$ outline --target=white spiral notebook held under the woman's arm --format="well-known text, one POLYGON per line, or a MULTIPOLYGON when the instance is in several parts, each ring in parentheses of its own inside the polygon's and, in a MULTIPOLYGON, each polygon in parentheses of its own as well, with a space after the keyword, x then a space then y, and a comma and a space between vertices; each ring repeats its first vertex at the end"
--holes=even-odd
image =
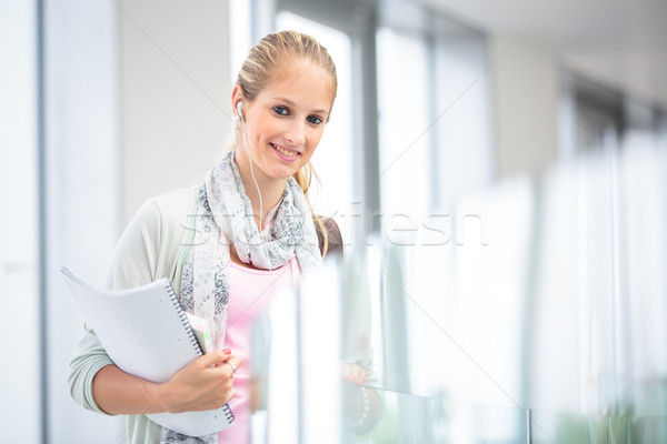
MULTIPOLYGON (((195 332, 166 278, 131 290, 102 290, 61 269, 88 324, 111 361, 126 373, 163 383, 202 355, 195 332)), ((152 413, 151 421, 188 436, 229 427, 229 404, 218 410, 152 413)))

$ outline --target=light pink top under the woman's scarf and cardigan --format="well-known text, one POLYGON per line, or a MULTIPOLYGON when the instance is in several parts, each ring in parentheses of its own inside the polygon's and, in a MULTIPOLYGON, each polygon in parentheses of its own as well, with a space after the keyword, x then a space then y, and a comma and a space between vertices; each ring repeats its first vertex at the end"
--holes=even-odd
POLYGON ((218 443, 250 443, 250 340, 252 325, 271 295, 300 276, 296 258, 276 270, 256 270, 233 262, 229 268, 229 305, 225 347, 243 360, 233 375, 235 396, 229 401, 233 425, 218 434, 218 443))

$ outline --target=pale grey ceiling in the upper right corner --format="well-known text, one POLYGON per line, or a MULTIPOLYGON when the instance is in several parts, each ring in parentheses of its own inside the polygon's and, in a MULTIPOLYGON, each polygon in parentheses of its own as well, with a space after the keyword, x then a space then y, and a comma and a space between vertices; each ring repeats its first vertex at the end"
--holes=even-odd
POLYGON ((537 39, 580 75, 667 110, 666 0, 420 0, 487 32, 537 39))

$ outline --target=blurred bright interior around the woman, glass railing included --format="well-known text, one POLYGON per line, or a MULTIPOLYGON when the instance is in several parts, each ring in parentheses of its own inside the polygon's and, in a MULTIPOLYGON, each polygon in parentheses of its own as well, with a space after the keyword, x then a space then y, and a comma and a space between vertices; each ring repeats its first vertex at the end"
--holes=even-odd
POLYGON ((664 442, 666 20, 659 0, 3 0, 2 436, 122 442, 67 392, 83 319, 59 269, 100 282, 139 205, 202 180, 248 49, 297 29, 339 74, 312 204, 362 261, 387 412, 432 420, 357 438, 664 442))

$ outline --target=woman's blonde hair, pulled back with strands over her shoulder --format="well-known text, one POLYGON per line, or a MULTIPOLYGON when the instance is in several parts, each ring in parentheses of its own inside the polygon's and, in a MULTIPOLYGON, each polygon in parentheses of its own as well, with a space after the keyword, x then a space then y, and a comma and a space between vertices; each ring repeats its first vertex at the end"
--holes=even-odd
MULTIPOLYGON (((280 72, 279 68, 296 60, 308 60, 330 74, 334 92, 331 105, 334 105, 334 99, 336 99, 338 90, 338 78, 334 60, 331 60, 327 49, 316 39, 297 31, 280 31, 268 34, 250 49, 237 78, 237 84, 243 92, 243 100, 252 102, 257 94, 273 80, 275 73, 280 72)), ((295 180, 303 190, 306 199, 308 199, 308 189, 313 175, 317 178, 310 162, 293 174, 295 180)), ((310 211, 312 212, 312 208, 310 211)), ((312 213, 312 216, 323 236, 323 258, 327 255, 329 246, 327 230, 318 215, 312 213)))

